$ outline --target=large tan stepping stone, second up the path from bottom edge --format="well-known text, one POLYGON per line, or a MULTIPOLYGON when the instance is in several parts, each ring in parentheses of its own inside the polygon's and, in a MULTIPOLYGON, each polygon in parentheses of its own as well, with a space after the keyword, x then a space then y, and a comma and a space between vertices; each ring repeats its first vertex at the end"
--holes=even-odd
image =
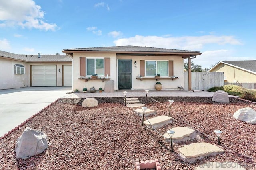
POLYGON ((224 152, 223 149, 206 142, 191 143, 190 145, 184 145, 178 150, 180 151, 180 159, 190 163, 195 162, 197 159, 203 159, 206 156, 216 156, 224 152))

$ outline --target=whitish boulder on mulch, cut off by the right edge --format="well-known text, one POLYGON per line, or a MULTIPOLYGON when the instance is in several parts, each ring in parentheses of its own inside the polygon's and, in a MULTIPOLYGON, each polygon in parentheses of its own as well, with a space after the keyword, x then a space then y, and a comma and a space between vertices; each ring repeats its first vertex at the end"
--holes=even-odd
POLYGON ((239 109, 233 117, 250 124, 256 124, 256 111, 250 107, 239 109))

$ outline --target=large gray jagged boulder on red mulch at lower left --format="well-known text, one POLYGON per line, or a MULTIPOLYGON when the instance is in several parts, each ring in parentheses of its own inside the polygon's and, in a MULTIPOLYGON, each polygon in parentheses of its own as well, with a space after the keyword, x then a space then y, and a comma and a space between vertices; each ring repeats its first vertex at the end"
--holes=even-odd
POLYGON ((15 145, 16 158, 27 159, 38 155, 44 152, 48 145, 48 137, 44 132, 26 127, 15 145))

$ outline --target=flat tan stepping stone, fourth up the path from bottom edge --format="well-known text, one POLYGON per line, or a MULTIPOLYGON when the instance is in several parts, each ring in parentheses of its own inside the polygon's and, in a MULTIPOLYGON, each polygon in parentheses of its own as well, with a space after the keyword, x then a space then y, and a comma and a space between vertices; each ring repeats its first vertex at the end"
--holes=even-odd
POLYGON ((157 117, 153 117, 151 119, 145 120, 143 123, 145 125, 152 127, 152 129, 159 129, 159 128, 163 127, 164 125, 168 125, 172 122, 173 122, 172 117, 157 116, 157 117))

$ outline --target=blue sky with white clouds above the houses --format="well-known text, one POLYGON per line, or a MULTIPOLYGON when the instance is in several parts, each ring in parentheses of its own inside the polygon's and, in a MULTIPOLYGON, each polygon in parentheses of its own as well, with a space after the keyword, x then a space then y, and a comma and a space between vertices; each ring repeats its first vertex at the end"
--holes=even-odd
POLYGON ((255 0, 0 0, 0 50, 137 45, 200 51, 203 68, 256 60, 255 0))

